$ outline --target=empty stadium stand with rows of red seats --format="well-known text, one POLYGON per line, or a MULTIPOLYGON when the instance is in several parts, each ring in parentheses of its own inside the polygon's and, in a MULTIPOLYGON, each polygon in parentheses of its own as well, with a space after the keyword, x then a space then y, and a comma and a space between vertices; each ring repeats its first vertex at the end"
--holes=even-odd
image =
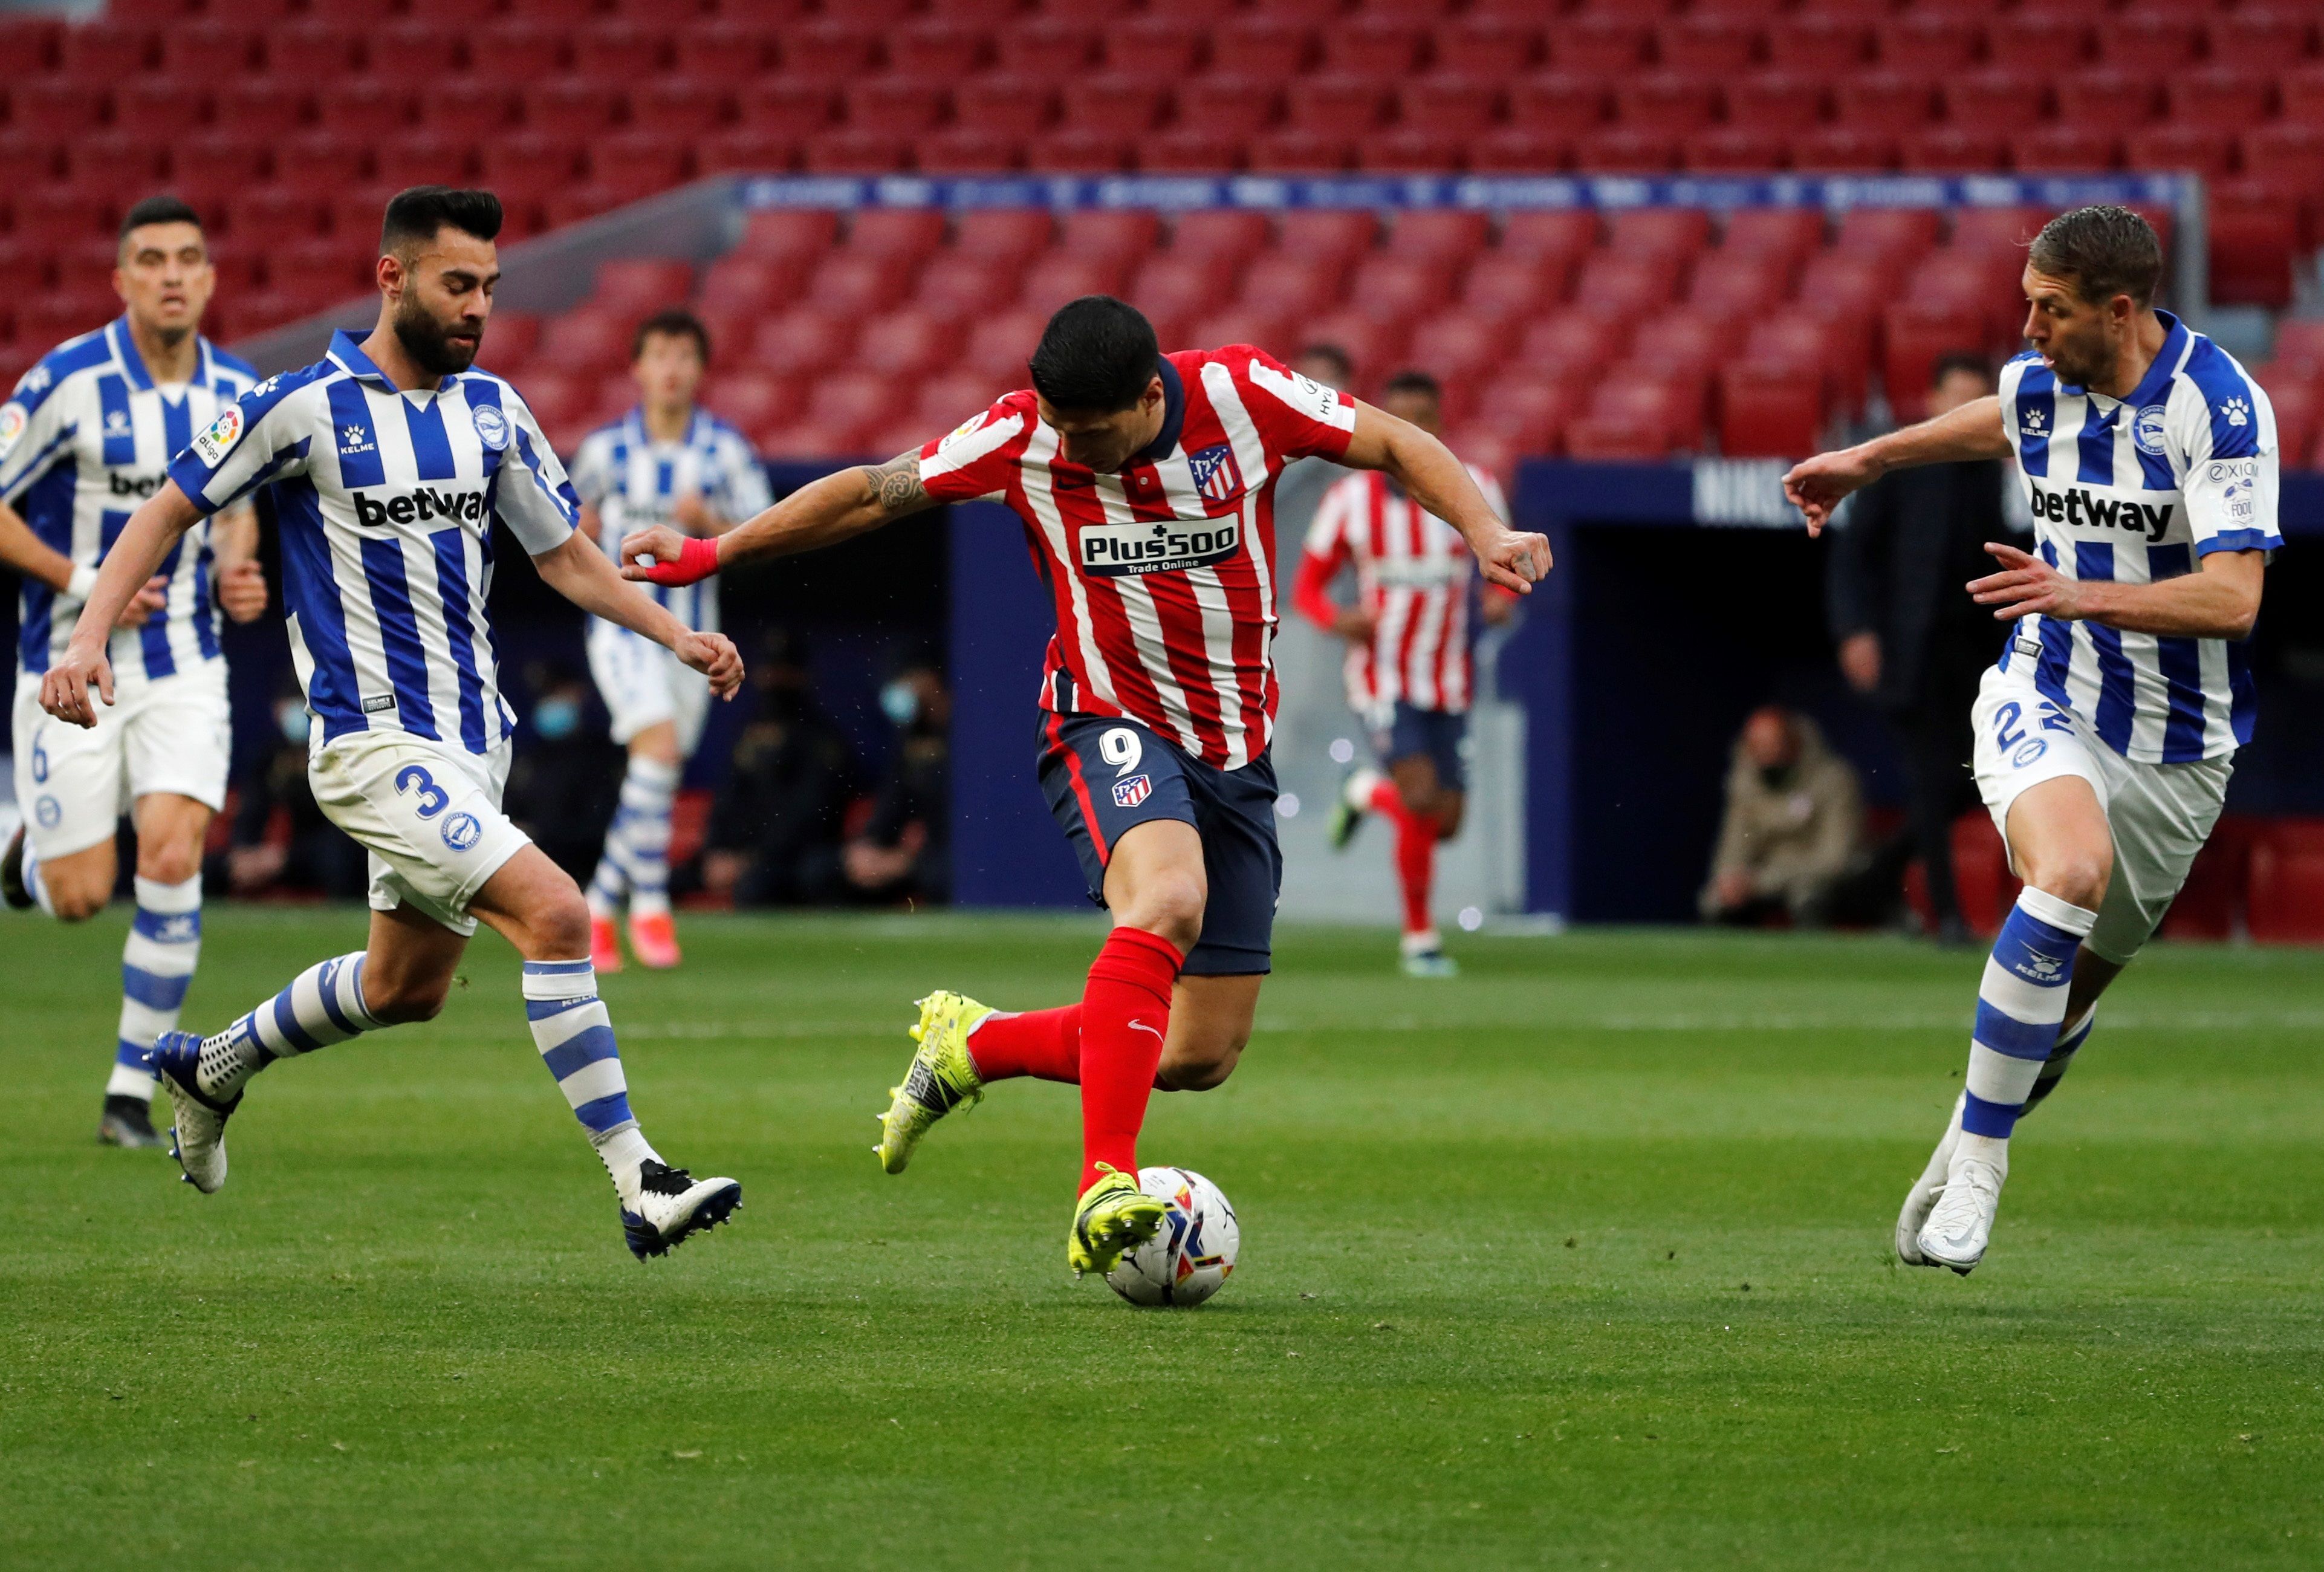
MULTIPOLYGON (((488 181, 511 235, 716 172, 2096 172, 2210 181, 2210 293, 2282 307, 2324 240, 2312 5, 2205 0, 116 0, 0 19, 0 370, 112 309, 112 226, 216 226, 228 337, 358 291, 383 198, 488 181), (365 14, 372 12, 372 14, 365 14)), ((1174 342, 1334 337, 1455 386, 1515 453, 1799 453, 1875 386, 2015 337, 2040 212, 769 212, 725 258, 609 267, 490 363, 558 435, 627 402, 627 326, 693 298, 769 453, 892 451, 1020 379, 1085 291, 1174 342), (1903 281, 1903 288, 1899 288, 1903 281), (1520 353, 1511 356, 1511 344, 1520 353), (813 395, 809 395, 813 388, 813 395)), ((2324 333, 2261 370, 2317 460, 2324 333)))

